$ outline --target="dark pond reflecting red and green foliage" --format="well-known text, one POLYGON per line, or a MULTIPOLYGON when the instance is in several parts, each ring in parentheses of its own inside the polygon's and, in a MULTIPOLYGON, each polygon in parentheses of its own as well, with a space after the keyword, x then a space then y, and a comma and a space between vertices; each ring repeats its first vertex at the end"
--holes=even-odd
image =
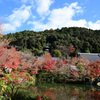
POLYGON ((100 100, 98 86, 38 83, 36 87, 51 100, 100 100))

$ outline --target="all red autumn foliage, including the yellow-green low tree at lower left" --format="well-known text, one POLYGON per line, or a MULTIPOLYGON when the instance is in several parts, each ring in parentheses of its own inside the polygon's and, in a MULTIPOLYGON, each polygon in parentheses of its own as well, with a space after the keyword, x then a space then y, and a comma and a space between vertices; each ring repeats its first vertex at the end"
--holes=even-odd
MULTIPOLYGON (((83 57, 74 57, 69 62, 61 59, 53 60, 49 53, 43 55, 42 59, 36 59, 33 55, 28 57, 8 44, 7 40, 0 42, 0 74, 3 74, 0 81, 5 82, 6 85, 10 84, 11 97, 14 96, 16 86, 20 88, 22 83, 30 80, 30 76, 39 72, 61 74, 67 79, 83 80, 88 77, 90 81, 100 77, 100 61, 90 63, 83 57), (74 69, 73 66, 76 68, 74 69)), ((75 50, 73 46, 69 49, 70 52, 75 50)))

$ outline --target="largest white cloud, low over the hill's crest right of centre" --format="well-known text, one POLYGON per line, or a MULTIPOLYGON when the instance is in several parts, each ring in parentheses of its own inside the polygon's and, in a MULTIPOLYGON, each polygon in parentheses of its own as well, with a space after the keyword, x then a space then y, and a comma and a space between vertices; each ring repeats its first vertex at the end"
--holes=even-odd
POLYGON ((77 2, 75 2, 63 8, 53 9, 50 12, 48 22, 46 24, 44 24, 43 21, 33 21, 28 24, 33 25, 33 30, 44 30, 50 28, 56 29, 71 26, 85 27, 87 22, 84 19, 78 21, 73 20, 73 17, 81 12, 81 7, 78 6, 77 2))

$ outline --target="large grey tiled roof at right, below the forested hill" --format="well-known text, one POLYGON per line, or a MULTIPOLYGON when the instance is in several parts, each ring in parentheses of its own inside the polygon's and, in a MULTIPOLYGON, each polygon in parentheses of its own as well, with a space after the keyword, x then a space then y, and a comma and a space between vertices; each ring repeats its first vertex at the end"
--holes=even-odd
POLYGON ((90 62, 100 60, 100 53, 78 53, 78 57, 87 58, 90 62))

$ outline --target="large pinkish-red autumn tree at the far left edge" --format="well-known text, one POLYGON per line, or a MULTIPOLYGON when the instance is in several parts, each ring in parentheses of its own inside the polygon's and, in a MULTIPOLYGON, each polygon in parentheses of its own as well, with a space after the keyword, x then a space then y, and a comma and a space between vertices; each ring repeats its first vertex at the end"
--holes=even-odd
POLYGON ((7 41, 1 42, 0 45, 0 68, 14 69, 18 68, 20 63, 20 53, 14 47, 8 49, 7 41))

